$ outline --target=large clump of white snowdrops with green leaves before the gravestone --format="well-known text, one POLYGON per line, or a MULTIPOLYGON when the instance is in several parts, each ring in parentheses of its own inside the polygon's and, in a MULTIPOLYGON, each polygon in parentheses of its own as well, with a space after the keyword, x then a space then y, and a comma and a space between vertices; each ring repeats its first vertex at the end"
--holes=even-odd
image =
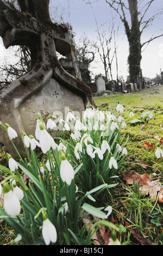
MULTIPOLYGON (((123 107, 118 104, 116 111, 121 114, 123 107)), ((55 129, 54 120, 49 117, 45 125, 39 114, 35 138, 22 131, 26 159, 22 159, 15 148, 20 161, 16 162, 8 154, 9 168, 0 166, 8 173, 0 187, 4 196, 0 217, 18 234, 15 242, 27 245, 91 245, 92 230, 98 222, 85 234, 83 212, 101 218, 100 225, 113 230, 112 234, 115 230, 120 231, 107 221, 110 208, 96 208, 91 202, 96 202, 98 197, 104 198, 108 189, 116 185, 112 181, 127 155, 127 141, 124 142, 120 134, 126 125, 123 118, 88 107, 82 120, 70 112, 65 121, 60 121, 64 134, 70 135, 68 139, 62 136, 57 144, 48 132, 55 129), (72 120, 75 120, 73 131, 70 129, 72 120), (120 138, 123 146, 118 143, 120 138), (40 162, 36 147, 45 154, 46 161, 40 162), (22 173, 28 176, 28 185, 22 173), (90 203, 85 201, 88 198, 90 203)), ((8 124, 3 127, 14 145, 16 131, 8 124)), ((115 241, 114 234, 111 242, 115 241)))

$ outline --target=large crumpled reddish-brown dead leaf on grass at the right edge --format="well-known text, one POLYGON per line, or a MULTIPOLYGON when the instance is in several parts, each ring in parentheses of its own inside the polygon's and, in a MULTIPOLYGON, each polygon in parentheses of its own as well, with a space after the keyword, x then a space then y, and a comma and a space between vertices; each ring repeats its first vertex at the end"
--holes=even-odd
POLYGON ((126 180, 127 184, 133 185, 133 180, 135 184, 137 184, 138 180, 140 181, 140 188, 141 195, 149 195, 150 198, 155 199, 158 192, 161 191, 161 182, 160 180, 153 180, 149 178, 148 174, 138 174, 135 173, 134 170, 131 170, 130 173, 123 174, 123 180, 126 180))

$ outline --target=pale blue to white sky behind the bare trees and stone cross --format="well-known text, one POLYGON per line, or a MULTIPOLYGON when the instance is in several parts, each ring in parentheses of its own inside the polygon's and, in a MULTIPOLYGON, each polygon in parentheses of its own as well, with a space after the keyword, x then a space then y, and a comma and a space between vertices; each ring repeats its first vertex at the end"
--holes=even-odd
MULTIPOLYGON (((149 0, 143 0, 147 3, 149 0)), ((90 40, 96 41, 99 44, 99 36, 97 33, 97 25, 101 32, 106 31, 109 35, 110 21, 114 17, 115 29, 119 27, 118 35, 116 36, 117 59, 118 59, 118 76, 122 76, 124 80, 128 75, 127 57, 129 53, 127 36, 124 33, 122 22, 116 13, 110 9, 109 4, 105 0, 50 0, 49 10, 51 19, 55 22, 71 23, 75 40, 78 41, 82 36, 87 36, 90 40), (96 25, 96 21, 97 25, 96 25)), ((127 0, 124 0, 127 3, 127 0)), ((151 8, 149 8, 146 19, 154 15, 155 11, 163 9, 163 1, 155 0, 151 8)), ((127 16, 128 18, 129 16, 127 16)), ((147 41, 152 35, 163 34, 162 30, 163 14, 155 19, 142 34, 142 41, 147 41)), ((114 45, 112 44, 112 49, 114 45)), ((8 50, 5 50, 0 37, 0 57, 1 60, 6 58, 8 50)), ((163 71, 163 36, 152 41, 142 52, 141 68, 143 77, 154 78, 156 74, 160 74, 160 69, 163 71)), ((103 64, 99 59, 99 54, 96 53, 96 58, 91 63, 90 69, 94 75, 101 73, 104 75, 103 64)), ((112 65, 113 78, 116 80, 116 66, 112 65)))

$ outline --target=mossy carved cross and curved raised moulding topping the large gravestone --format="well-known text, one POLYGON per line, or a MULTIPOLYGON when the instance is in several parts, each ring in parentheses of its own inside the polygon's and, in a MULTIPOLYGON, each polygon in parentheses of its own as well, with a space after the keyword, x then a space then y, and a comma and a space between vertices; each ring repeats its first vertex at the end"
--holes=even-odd
MULTIPOLYGON (((13 121, 13 128, 21 133, 23 120, 19 121, 20 109, 24 102, 30 106, 30 97, 41 92, 47 83, 50 83, 53 90, 59 87, 70 90, 73 95, 81 97, 84 105, 88 102, 92 105, 95 103, 89 87, 68 74, 59 63, 56 51, 62 55, 69 54, 71 38, 66 26, 51 21, 49 0, 17 0, 17 2, 21 11, 9 7, 0 0, 0 36, 6 48, 12 45, 28 46, 32 65, 27 74, 0 90, 0 120, 9 124, 13 121), (51 81, 54 83, 52 84, 51 81)), ((38 99, 41 98, 38 96, 38 99)), ((23 109, 25 107, 21 111, 23 109)), ((33 110, 30 109, 30 112, 33 110)), ((7 138, 1 127, 0 134, 0 147, 2 147, 5 146, 7 138)))

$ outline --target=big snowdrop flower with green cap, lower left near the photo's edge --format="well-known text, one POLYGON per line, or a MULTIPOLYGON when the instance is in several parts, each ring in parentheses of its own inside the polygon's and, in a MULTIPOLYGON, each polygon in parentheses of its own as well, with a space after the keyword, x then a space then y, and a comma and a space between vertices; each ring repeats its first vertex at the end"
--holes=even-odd
POLYGON ((10 190, 9 185, 5 182, 3 185, 4 197, 3 206, 5 212, 10 216, 20 215, 21 205, 20 200, 12 190, 10 190))

